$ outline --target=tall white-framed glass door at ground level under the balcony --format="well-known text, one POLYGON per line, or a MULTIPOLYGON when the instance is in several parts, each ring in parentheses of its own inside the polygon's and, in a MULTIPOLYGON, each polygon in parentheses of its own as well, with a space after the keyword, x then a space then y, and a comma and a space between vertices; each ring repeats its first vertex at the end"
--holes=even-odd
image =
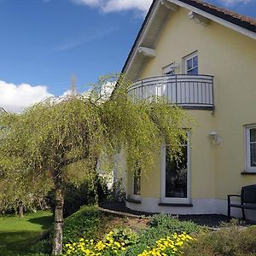
POLYGON ((166 147, 162 148, 161 201, 163 203, 190 203, 190 148, 183 144, 180 160, 170 160, 166 147))

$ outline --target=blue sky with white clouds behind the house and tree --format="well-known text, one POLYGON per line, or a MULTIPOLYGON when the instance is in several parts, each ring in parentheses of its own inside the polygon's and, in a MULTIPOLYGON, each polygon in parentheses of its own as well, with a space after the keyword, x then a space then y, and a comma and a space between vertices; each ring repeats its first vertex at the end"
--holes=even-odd
MULTIPOLYGON (((120 72, 152 0, 0 0, 0 107, 19 111, 120 72), (41 86, 39 86, 41 85, 41 86)), ((209 2, 256 18, 255 0, 209 2)))

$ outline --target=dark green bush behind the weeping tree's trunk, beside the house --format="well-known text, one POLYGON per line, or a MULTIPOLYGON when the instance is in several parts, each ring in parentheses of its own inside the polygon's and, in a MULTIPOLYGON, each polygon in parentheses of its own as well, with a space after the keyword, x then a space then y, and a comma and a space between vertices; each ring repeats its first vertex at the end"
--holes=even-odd
MULTIPOLYGON (((101 177, 96 177, 94 183, 88 180, 79 186, 67 183, 65 186, 64 218, 67 218, 73 212, 79 211, 80 207, 84 205, 93 205, 105 201, 107 197, 108 187, 101 177)), ((46 201, 52 212, 55 209, 54 198, 54 191, 51 190, 46 196, 46 201)))

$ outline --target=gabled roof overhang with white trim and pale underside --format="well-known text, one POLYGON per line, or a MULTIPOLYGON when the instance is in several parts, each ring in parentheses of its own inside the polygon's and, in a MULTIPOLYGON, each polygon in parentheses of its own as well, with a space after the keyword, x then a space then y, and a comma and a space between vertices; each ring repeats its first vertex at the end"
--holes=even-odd
POLYGON ((122 73, 125 73, 129 79, 136 80, 143 67, 143 62, 148 57, 154 57, 154 47, 161 28, 169 15, 172 15, 180 7, 189 10, 189 19, 195 19, 196 22, 201 22, 204 26, 207 26, 208 21, 212 20, 249 38, 256 39, 256 25, 239 20, 217 8, 208 7, 207 4, 204 5, 193 0, 154 0, 122 69, 122 73), (148 55, 145 52, 148 52, 148 55))

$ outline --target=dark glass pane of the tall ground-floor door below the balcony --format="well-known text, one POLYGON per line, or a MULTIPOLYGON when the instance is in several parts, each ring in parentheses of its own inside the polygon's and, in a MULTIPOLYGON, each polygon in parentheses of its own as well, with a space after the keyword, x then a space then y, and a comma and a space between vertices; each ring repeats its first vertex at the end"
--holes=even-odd
POLYGON ((168 160, 166 155, 166 197, 188 197, 188 147, 183 147, 180 161, 168 160))

